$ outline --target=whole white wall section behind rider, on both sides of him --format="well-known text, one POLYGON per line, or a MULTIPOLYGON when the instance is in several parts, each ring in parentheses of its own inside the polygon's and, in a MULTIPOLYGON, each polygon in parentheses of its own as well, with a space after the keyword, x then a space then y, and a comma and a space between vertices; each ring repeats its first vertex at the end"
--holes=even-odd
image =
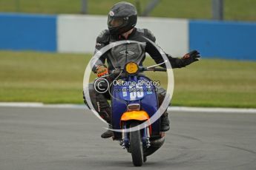
MULTIPOLYGON (((157 44, 174 56, 188 52, 188 20, 138 18, 137 27, 148 28, 157 44)), ((108 29, 107 16, 59 15, 57 18, 58 52, 94 51, 96 37, 108 29)))

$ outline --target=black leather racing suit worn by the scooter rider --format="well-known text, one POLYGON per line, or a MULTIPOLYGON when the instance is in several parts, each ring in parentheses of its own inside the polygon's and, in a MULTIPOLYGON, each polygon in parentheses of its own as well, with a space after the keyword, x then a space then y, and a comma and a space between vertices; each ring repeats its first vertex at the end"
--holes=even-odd
MULTIPOLYGON (((122 35, 111 35, 108 30, 103 30, 102 33, 100 33, 100 35, 96 38, 95 52, 101 50, 102 47, 105 47, 106 45, 116 41, 131 40, 139 41, 141 43, 122 44, 111 48, 111 50, 105 52, 101 56, 101 58, 96 61, 96 64, 93 66, 93 72, 96 72, 96 66, 105 65, 105 61, 107 61, 108 63, 109 70, 117 67, 122 68, 128 61, 135 61, 137 62, 137 64, 142 66, 142 63, 145 60, 145 52, 148 52, 148 54, 151 56, 151 58, 154 59, 157 64, 162 63, 162 55, 160 55, 160 52, 157 50, 157 48, 154 47, 154 45, 151 44, 151 42, 148 41, 147 38, 153 42, 156 41, 154 35, 147 29, 134 28, 133 32, 128 35, 127 39, 122 37, 122 35)), ((171 62, 172 68, 185 67, 182 59, 172 58, 170 55, 166 55, 168 57, 168 60, 171 62)), ((165 64, 161 65, 161 67, 165 67, 165 64)), ((103 119, 105 119, 108 123, 111 123, 111 107, 109 106, 109 103, 107 101, 108 99, 110 99, 108 92, 105 92, 104 94, 98 93, 93 88, 93 84, 89 84, 89 93, 94 109, 99 112, 99 115, 103 119)), ((157 87, 159 106, 163 103, 165 93, 165 89, 157 87)), ((84 94, 84 101, 85 95, 86 94, 84 94)), ((167 112, 165 114, 167 114, 167 112)))

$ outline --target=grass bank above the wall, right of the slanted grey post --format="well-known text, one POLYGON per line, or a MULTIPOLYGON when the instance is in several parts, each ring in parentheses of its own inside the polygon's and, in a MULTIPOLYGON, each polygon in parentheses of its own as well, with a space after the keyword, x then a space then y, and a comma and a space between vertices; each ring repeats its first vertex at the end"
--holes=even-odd
MULTIPOLYGON (((224 19, 256 20, 255 0, 224 0, 224 19)), ((163 0, 151 16, 211 19, 211 0, 163 0)))

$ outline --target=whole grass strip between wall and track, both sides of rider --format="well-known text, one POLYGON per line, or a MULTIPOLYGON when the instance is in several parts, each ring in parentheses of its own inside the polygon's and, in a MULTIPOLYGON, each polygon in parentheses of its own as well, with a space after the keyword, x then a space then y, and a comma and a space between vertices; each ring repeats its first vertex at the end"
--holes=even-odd
MULTIPOLYGON (((91 55, 0 51, 0 101, 82 103, 91 55)), ((153 64, 150 58, 145 65, 153 64)), ((174 69, 174 106, 256 108, 256 62, 202 59, 174 69)), ((164 72, 149 75, 166 87, 164 72)))

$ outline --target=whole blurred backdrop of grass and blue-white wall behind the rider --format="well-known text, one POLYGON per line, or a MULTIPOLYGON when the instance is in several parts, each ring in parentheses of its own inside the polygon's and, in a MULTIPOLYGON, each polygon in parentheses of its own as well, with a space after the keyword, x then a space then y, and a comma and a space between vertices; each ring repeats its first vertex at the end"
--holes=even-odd
MULTIPOLYGON (((85 67, 116 2, 0 0, 0 102, 82 103, 85 67)), ((201 52, 174 70, 174 106, 256 107, 255 0, 129 2, 165 52, 201 52)), ((149 76, 167 86, 164 73, 149 76)))

